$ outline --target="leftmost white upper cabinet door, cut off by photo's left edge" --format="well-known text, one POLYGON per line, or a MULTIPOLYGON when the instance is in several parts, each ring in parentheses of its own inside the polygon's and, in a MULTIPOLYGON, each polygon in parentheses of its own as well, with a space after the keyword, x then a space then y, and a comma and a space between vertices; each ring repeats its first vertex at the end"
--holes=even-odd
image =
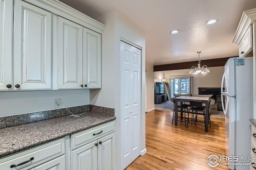
POLYGON ((12 87, 12 1, 0 0, 0 90, 12 87))

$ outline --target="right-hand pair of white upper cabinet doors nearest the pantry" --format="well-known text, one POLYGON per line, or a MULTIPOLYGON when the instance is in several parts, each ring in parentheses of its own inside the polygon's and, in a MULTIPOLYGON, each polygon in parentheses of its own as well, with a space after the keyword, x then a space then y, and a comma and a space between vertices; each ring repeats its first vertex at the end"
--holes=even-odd
POLYGON ((101 88, 101 34, 58 16, 58 89, 101 88))

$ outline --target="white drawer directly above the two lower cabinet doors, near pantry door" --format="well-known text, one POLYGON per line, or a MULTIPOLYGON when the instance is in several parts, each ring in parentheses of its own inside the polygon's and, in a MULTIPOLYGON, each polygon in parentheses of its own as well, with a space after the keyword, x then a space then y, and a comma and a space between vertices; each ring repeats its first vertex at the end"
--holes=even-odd
POLYGON ((96 140, 102 135, 107 135, 115 130, 115 122, 111 121, 92 127, 90 129, 75 133, 71 135, 71 150, 74 150, 92 140, 96 140))

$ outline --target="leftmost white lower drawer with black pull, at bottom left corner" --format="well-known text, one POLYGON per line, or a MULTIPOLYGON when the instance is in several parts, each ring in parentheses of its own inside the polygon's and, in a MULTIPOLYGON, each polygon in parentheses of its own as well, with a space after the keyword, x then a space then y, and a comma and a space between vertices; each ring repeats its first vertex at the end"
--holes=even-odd
POLYGON ((62 154, 65 154, 65 139, 58 139, 32 149, 28 149, 17 154, 13 154, 0 159, 1 170, 27 170, 49 160, 52 160, 62 154), (34 158, 30 162, 10 168, 11 165, 18 165, 22 162, 28 161, 34 158))

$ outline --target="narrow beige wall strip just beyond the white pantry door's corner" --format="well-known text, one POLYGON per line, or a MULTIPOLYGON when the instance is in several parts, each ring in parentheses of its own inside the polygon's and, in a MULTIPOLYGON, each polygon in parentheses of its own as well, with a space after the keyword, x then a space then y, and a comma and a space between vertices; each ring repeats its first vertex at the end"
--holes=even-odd
POLYGON ((147 111, 155 109, 154 104, 154 65, 153 63, 146 63, 147 70, 147 111))

